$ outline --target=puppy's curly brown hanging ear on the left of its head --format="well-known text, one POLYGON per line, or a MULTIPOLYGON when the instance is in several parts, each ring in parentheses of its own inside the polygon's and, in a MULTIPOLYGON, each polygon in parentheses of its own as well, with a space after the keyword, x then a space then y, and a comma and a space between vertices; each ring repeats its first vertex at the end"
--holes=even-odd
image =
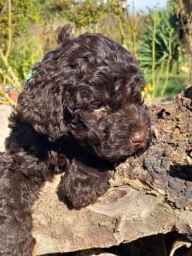
POLYGON ((60 88, 54 80, 47 82, 44 73, 37 73, 32 81, 26 82, 18 98, 15 116, 48 136, 49 141, 54 141, 65 135, 68 128, 64 125, 60 88))

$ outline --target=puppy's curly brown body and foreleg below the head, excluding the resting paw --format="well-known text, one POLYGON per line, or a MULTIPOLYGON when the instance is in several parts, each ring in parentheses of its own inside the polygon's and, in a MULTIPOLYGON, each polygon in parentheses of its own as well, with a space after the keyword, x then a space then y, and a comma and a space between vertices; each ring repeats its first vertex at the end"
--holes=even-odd
POLYGON ((29 256, 35 244, 31 207, 42 183, 59 172, 57 156, 31 125, 17 120, 10 127, 0 156, 0 255, 29 256))

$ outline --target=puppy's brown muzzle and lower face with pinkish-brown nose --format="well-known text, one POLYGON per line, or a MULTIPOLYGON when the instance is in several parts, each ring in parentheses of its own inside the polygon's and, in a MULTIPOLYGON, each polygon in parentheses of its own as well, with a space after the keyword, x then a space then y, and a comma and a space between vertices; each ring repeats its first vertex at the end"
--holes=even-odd
POLYGON ((110 161, 142 154, 148 148, 151 129, 145 108, 132 104, 113 112, 100 111, 84 111, 69 121, 73 137, 84 148, 110 161))

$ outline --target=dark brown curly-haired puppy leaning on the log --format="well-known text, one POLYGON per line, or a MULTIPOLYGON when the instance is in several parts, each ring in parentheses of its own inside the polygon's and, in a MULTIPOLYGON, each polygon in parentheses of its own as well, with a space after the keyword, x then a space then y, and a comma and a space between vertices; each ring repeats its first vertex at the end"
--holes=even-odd
POLYGON ((138 61, 100 34, 70 33, 64 26, 58 48, 34 65, 9 119, 0 160, 3 256, 32 255, 31 207, 45 180, 64 172, 59 198, 85 207, 108 189, 113 165, 150 143, 138 61))

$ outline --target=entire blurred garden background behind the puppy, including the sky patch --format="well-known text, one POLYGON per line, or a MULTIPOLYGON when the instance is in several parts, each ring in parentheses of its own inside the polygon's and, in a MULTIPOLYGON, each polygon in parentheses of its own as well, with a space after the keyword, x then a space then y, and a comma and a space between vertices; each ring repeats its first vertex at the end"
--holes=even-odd
POLYGON ((0 103, 14 105, 61 26, 99 32, 141 61, 149 102, 192 82, 192 0, 0 0, 0 103))

